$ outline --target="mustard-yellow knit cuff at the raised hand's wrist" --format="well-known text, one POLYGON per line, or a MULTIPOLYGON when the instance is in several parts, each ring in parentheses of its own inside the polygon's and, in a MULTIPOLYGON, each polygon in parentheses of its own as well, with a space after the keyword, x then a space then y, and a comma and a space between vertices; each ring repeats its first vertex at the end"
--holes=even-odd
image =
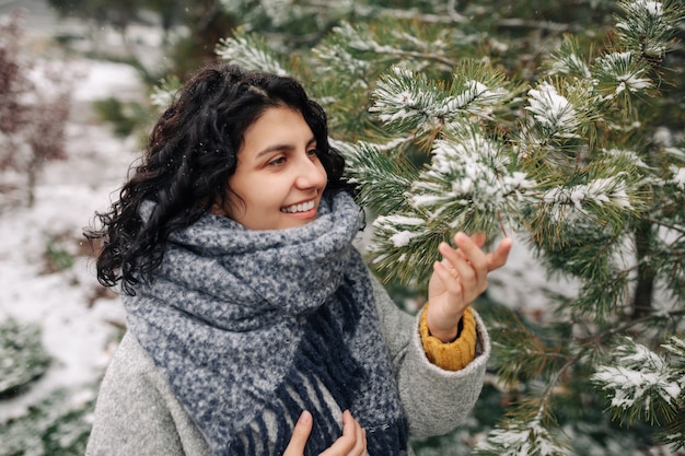
POLYGON ((430 335, 426 315, 428 304, 421 311, 419 332, 428 361, 445 371, 458 371, 476 358, 476 318, 471 307, 466 307, 462 317, 463 328, 453 342, 443 342, 430 335))

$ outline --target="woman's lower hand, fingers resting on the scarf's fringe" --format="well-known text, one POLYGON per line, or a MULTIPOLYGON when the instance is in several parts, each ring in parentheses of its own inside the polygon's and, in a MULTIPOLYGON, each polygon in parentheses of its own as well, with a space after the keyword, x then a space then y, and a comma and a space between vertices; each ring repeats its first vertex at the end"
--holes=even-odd
MULTIPOLYGON (((292 431, 292 437, 283 456, 302 456, 312 432, 312 414, 303 411, 292 431)), ((320 456, 363 456, 367 454, 367 432, 352 418, 349 410, 342 413, 342 436, 320 456)))

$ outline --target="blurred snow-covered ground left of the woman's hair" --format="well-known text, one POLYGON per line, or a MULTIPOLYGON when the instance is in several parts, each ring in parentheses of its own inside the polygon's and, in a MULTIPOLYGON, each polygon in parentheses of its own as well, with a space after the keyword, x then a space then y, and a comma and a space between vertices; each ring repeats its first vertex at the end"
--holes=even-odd
MULTIPOLYGON (((138 86, 135 71, 124 65, 79 61, 84 72, 76 91, 77 106, 92 95, 120 93, 138 86)), ((45 377, 25 395, 0 404, 0 422, 58 386, 96 381, 106 365, 107 342, 123 324, 118 300, 97 297, 100 287, 88 256, 77 256, 73 268, 49 273, 46 249, 50 242, 72 254, 90 249, 82 229, 95 210, 106 208, 135 157, 135 141, 112 136, 107 126, 92 121, 70 124, 63 162, 48 163, 36 188, 36 202, 0 212, 0 319, 35 323, 55 362, 45 377)))

